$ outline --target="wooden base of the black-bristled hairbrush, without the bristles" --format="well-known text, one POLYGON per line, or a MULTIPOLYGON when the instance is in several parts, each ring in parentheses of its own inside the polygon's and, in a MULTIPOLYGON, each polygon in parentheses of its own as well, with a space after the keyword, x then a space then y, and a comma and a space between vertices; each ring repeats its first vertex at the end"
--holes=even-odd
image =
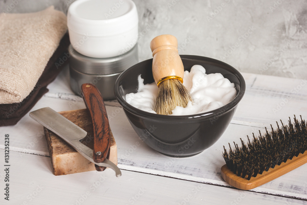
POLYGON ((276 179, 305 163, 307 163, 307 151, 304 154, 299 154, 297 157, 294 156, 292 160, 287 160, 280 165, 276 165, 274 168, 270 168, 268 171, 264 171, 261 175, 258 174, 256 177, 251 177, 250 180, 237 176, 227 168, 226 164, 222 166, 221 174, 223 179, 231 186, 238 189, 250 190, 276 179))

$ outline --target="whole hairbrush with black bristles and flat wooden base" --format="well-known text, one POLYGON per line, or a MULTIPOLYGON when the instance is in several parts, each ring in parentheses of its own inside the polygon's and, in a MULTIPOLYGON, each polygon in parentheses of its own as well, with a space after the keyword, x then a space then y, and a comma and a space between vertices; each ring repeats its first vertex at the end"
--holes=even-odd
MULTIPOLYGON (((276 122, 277 123, 277 122, 276 122)), ((282 122, 281 122, 282 123, 282 122)), ((221 168, 223 179, 239 189, 249 190, 265 184, 289 171, 307 163, 307 126, 305 120, 298 121, 294 116, 294 124, 282 124, 277 130, 266 133, 259 131, 253 140, 248 138, 247 145, 241 139, 242 147, 235 144, 232 150, 226 151, 223 157, 226 164, 221 168)))

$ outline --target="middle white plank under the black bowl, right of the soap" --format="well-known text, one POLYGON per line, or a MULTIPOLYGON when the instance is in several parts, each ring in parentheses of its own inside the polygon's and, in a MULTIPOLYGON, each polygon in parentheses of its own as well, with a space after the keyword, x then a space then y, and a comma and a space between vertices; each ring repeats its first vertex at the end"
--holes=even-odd
MULTIPOLYGON (((119 112, 115 118, 116 120, 110 121, 111 128, 127 124, 122 112, 119 112)), ((254 128, 250 126, 230 124, 220 140, 199 155, 172 158, 149 148, 133 129, 129 127, 122 129, 126 130, 124 135, 119 129, 113 132, 118 142, 119 168, 223 186, 229 186, 220 174, 220 169, 225 164, 222 157, 223 145, 226 146, 228 142, 233 141, 239 142, 240 137, 244 139, 247 134, 254 132, 254 128)), ((307 199, 307 189, 304 188, 307 186, 304 171, 306 168, 307 164, 253 190, 307 199)))

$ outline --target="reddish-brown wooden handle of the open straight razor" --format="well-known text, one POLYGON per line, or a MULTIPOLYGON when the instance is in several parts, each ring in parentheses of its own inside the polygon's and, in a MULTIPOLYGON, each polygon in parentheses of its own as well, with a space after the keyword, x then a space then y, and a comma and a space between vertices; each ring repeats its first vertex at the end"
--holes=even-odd
MULTIPOLYGON (((85 83, 81 86, 82 96, 91 115, 94 129, 94 162, 103 162, 110 150, 110 127, 106 107, 101 93, 95 85, 85 83)), ((95 165, 97 171, 103 171, 105 167, 95 165)))

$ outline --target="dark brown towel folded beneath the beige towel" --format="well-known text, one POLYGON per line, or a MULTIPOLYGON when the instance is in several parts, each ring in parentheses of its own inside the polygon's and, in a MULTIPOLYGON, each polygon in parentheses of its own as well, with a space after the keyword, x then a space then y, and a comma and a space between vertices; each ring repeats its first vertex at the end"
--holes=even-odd
POLYGON ((65 34, 60 42, 59 47, 48 61, 44 72, 39 78, 36 86, 22 102, 0 104, 0 126, 16 124, 23 116, 25 116, 25 114, 31 110, 31 108, 33 108, 37 101, 45 93, 48 92, 48 89, 46 88, 47 85, 56 78, 56 76, 68 63, 68 60, 63 61, 62 59, 68 55, 69 44, 70 42, 68 34, 65 34))

